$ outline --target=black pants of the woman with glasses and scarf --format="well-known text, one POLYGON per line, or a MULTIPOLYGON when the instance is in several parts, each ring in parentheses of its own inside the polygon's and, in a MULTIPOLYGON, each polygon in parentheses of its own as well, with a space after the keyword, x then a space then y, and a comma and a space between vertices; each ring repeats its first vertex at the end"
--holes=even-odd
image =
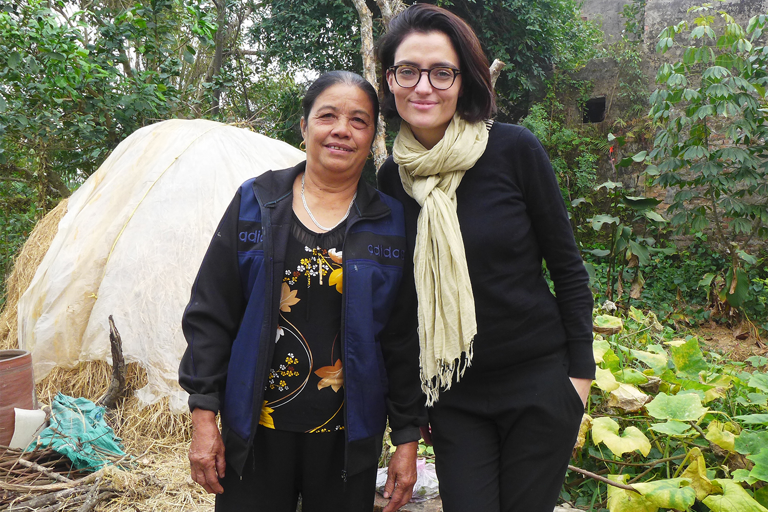
POLYGON ((562 355, 468 368, 429 408, 445 512, 552 512, 584 407, 562 355))

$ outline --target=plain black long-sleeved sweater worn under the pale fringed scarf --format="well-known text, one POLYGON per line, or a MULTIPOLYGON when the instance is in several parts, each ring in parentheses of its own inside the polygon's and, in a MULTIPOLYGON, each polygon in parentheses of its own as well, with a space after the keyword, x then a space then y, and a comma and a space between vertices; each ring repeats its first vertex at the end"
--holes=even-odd
MULTIPOLYGON (((379 189, 402 202, 414 246, 420 207, 390 157, 379 189)), ((468 372, 496 371, 554 352, 568 375, 594 378, 589 277, 546 151, 524 127, 495 123, 485 153, 456 190, 478 334, 468 372), (541 272, 545 259, 554 292, 541 272)), ((415 291, 403 296, 416 314, 415 291)))

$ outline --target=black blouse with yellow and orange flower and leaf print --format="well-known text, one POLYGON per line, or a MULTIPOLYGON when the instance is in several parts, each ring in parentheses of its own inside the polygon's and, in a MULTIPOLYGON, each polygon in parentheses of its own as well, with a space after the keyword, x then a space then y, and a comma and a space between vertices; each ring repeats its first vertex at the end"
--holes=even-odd
POLYGON ((314 233, 293 215, 280 327, 259 424, 293 432, 344 428, 342 245, 346 221, 314 233))

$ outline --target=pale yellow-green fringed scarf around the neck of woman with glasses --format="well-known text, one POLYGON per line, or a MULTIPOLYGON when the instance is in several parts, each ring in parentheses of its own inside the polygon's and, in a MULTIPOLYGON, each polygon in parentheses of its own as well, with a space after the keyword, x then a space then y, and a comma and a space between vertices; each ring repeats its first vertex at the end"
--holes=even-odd
POLYGON ((441 388, 451 388, 457 371, 458 380, 472 362, 475 297, 456 216, 456 188, 486 144, 485 123, 468 123, 455 114, 442 140, 430 150, 403 121, 392 150, 403 188, 422 206, 413 263, 427 405, 437 401, 441 388))

